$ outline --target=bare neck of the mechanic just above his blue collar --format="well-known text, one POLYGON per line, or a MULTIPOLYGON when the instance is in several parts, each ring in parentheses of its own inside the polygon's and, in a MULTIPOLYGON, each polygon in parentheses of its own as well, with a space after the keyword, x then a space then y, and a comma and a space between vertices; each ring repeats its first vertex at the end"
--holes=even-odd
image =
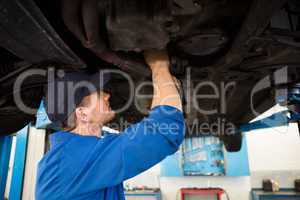
POLYGON ((102 125, 91 123, 82 124, 78 125, 75 129, 72 130, 72 132, 83 136, 100 137, 102 134, 102 125))

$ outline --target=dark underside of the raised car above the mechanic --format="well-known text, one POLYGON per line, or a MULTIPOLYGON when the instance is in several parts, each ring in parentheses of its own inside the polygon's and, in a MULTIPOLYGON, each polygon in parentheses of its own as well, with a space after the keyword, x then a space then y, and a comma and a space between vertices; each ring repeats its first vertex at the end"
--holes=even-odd
MULTIPOLYGON (((34 120, 13 100, 15 80, 29 69, 121 69, 140 83, 151 80, 143 50, 167 48, 170 70, 182 83, 190 127, 195 120, 247 123, 255 117, 252 108, 262 113, 272 107, 278 88, 300 79, 297 0, 1 0, 0 19, 1 134, 34 120), (282 67, 288 78, 276 84, 273 74, 282 67), (252 96, 268 76, 270 86, 252 96), (203 82, 209 84, 198 87, 203 82), (214 96, 216 90, 223 99, 214 96), (196 104, 216 112, 198 112, 193 95, 206 95, 196 104)), ((38 74, 23 82, 20 92, 28 107, 38 108, 46 85, 47 77, 38 74)), ((130 92, 123 77, 113 75, 109 88, 113 107, 126 103, 130 92)), ((152 89, 143 92, 151 94, 152 89)), ((147 108, 151 98, 137 101, 147 108)), ((131 105, 116 120, 134 123, 143 116, 131 105)), ((212 130, 191 128, 187 136, 206 132, 212 130)), ((219 136, 229 149, 240 148, 239 135, 219 136)))

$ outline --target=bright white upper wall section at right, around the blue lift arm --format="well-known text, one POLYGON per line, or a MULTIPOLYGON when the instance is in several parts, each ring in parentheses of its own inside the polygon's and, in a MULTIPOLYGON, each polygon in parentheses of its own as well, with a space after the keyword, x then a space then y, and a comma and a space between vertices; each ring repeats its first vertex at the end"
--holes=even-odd
MULTIPOLYGON (((257 119, 285 108, 275 106, 257 119)), ((251 171, 300 170, 300 135, 297 124, 247 133, 251 171)))

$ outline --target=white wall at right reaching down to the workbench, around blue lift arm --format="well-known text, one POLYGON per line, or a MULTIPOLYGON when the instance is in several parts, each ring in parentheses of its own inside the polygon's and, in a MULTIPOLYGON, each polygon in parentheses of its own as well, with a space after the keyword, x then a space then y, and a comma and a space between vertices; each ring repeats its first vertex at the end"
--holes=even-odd
MULTIPOLYGON (((259 118, 285 108, 275 106, 259 118)), ((281 188, 294 187, 300 178, 300 135, 297 124, 247 133, 252 187, 261 187, 263 179, 277 181, 281 188)))

